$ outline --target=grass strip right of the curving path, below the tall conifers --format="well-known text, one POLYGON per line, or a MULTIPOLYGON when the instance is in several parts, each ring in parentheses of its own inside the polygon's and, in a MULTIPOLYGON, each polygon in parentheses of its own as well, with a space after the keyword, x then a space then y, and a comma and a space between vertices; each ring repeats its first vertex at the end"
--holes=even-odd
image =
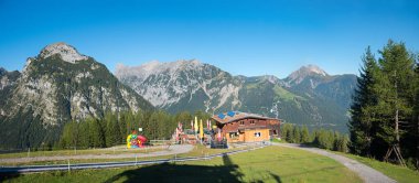
POLYGON ((348 153, 341 153, 341 152, 334 152, 334 151, 333 151, 333 153, 339 153, 339 154, 345 155, 347 158, 354 159, 361 163, 364 163, 364 164, 386 174, 387 176, 396 180, 397 182, 400 182, 400 183, 419 182, 419 173, 413 171, 413 170, 410 170, 408 168, 402 168, 402 166, 395 165, 391 163, 380 162, 377 160, 368 159, 365 157, 358 157, 358 155, 354 155, 354 154, 348 154, 348 153))

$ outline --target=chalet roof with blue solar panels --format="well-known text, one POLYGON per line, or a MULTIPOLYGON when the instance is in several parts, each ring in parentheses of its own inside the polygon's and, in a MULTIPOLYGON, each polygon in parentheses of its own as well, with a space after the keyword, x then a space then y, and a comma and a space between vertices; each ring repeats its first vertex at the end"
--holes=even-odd
POLYGON ((256 115, 256 114, 248 114, 248 112, 241 112, 241 111, 227 111, 227 112, 223 112, 219 115, 214 115, 212 117, 212 119, 214 119, 215 121, 217 121, 219 123, 228 123, 228 122, 233 122, 233 121, 237 121, 237 120, 241 120, 241 119, 246 119, 246 118, 275 119, 275 118, 262 117, 262 116, 256 115))

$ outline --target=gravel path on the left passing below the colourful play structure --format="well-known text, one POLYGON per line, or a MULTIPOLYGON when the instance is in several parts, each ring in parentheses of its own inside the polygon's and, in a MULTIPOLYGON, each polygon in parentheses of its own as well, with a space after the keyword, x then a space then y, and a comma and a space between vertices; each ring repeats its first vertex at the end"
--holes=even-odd
POLYGON ((87 159, 123 159, 123 158, 146 158, 146 157, 160 157, 172 155, 179 153, 186 153, 193 149, 191 144, 174 144, 162 148, 161 151, 153 151, 149 153, 121 153, 121 154, 80 154, 80 155, 57 155, 57 157, 33 157, 33 158, 11 158, 0 159, 1 163, 22 163, 32 161, 60 161, 60 160, 87 160, 87 159))

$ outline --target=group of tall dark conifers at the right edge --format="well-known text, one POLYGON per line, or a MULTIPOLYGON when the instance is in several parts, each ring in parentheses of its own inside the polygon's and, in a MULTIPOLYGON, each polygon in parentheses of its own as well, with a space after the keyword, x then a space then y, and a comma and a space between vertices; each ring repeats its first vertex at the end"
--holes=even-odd
POLYGON ((388 41, 366 49, 351 106, 353 153, 419 168, 418 54, 388 41))

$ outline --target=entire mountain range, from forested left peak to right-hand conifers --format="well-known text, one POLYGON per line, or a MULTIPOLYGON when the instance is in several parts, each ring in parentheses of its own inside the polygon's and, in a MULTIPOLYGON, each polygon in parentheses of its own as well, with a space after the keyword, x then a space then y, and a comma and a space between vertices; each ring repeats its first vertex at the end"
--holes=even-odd
POLYGON ((0 148, 52 146, 65 122, 121 110, 240 110, 345 131, 355 85, 355 75, 332 76, 314 65, 280 79, 233 76, 196 60, 119 64, 114 75, 55 43, 29 57, 22 72, 0 68, 0 148))

